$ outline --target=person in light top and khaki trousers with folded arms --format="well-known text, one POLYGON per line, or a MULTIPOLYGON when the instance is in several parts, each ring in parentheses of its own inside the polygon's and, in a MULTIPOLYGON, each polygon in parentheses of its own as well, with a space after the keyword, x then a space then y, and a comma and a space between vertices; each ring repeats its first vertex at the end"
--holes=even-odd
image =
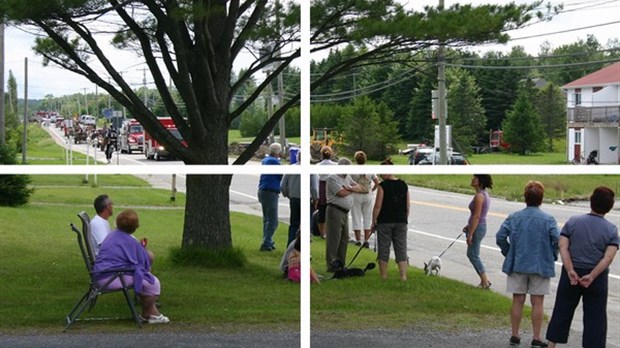
MULTIPOLYGON (((351 160, 341 158, 338 165, 350 165, 351 160)), ((334 272, 332 263, 340 260, 346 264, 349 242, 349 210, 353 207, 353 192, 360 192, 359 186, 347 174, 331 174, 326 181, 327 207, 325 209, 325 258, 327 271, 334 272)))

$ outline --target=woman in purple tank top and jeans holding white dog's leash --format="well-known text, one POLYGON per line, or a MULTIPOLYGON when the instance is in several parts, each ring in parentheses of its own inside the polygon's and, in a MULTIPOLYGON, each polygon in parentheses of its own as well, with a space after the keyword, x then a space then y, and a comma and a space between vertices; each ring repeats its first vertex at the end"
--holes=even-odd
POLYGON ((480 244, 487 233, 487 213, 491 198, 487 192, 487 188, 493 188, 493 179, 490 175, 475 174, 471 178, 471 186, 476 190, 474 199, 469 203, 469 221, 467 226, 463 228, 467 236, 467 258, 480 277, 479 287, 488 289, 491 282, 487 278, 487 274, 480 259, 480 244))

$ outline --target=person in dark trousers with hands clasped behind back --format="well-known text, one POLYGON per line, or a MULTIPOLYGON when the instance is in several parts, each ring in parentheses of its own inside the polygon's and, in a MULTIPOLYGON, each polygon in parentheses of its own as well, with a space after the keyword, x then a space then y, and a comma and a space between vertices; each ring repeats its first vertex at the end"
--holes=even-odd
POLYGON ((618 227, 605 220, 614 191, 597 187, 589 214, 571 217, 560 235, 562 275, 547 329, 549 347, 567 343, 575 308, 583 299, 582 347, 602 348, 607 341, 609 265, 618 252, 618 227))

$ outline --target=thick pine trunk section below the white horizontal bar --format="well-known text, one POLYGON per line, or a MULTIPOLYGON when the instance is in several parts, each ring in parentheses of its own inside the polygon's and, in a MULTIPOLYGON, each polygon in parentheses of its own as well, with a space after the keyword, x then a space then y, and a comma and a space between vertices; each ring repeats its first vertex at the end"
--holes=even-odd
POLYGON ((183 248, 232 247, 229 189, 232 175, 188 175, 183 248))

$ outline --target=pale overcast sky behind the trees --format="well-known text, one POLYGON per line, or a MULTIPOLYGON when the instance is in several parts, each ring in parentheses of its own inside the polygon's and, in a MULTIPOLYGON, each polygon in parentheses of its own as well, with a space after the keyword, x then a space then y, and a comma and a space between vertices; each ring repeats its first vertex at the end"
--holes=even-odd
MULTIPOLYGON (((438 0, 401 0, 409 9, 422 10, 426 5, 436 6, 438 0)), ((445 0, 445 6, 449 7, 457 1, 445 0)), ((517 3, 530 3, 530 1, 517 0, 517 3)), ((460 1, 460 3, 473 3, 479 5, 489 1, 460 1)), ((492 3, 492 2, 491 2, 492 3)), ((501 2, 495 2, 501 3, 501 2)), ((551 1, 558 4, 560 1, 551 1)), ((578 39, 585 40, 588 34, 593 34, 598 41, 605 45, 609 39, 620 38, 620 0, 566 0, 563 1, 566 13, 561 13, 550 22, 538 23, 524 29, 510 32, 513 38, 505 45, 485 45, 470 47, 475 52, 487 50, 509 52, 512 46, 523 46, 531 55, 539 52, 540 45, 548 40, 552 48, 576 42, 578 39), (570 10, 570 11, 569 11, 570 10), (598 26, 614 22, 610 25, 598 26), (589 26, 597 26, 589 29, 573 30, 589 26), (560 31, 565 33, 557 33, 560 31), (548 35, 542 35, 548 34, 548 35), (535 37, 530 37, 535 36, 535 37), (529 37, 526 39, 519 39, 529 37)), ((103 41, 103 40, 101 40, 103 41)), ((14 27, 7 27, 5 32, 5 79, 8 79, 8 71, 11 70, 17 80, 19 97, 24 97, 24 60, 28 58, 28 98, 40 99, 51 94, 62 96, 74 93, 95 93, 95 86, 85 78, 65 71, 52 65, 43 67, 42 57, 32 51, 34 36, 14 27)), ((243 65, 243 57, 242 62, 243 65)), ((247 57, 245 58, 248 61, 247 57)), ((302 60, 303 61, 303 60, 302 60)), ((140 87, 143 84, 144 63, 129 52, 115 50, 112 62, 120 70, 123 76, 132 86, 140 87)), ((149 87, 151 79, 147 75, 149 87)), ((101 90, 99 90, 101 93, 101 90)))

